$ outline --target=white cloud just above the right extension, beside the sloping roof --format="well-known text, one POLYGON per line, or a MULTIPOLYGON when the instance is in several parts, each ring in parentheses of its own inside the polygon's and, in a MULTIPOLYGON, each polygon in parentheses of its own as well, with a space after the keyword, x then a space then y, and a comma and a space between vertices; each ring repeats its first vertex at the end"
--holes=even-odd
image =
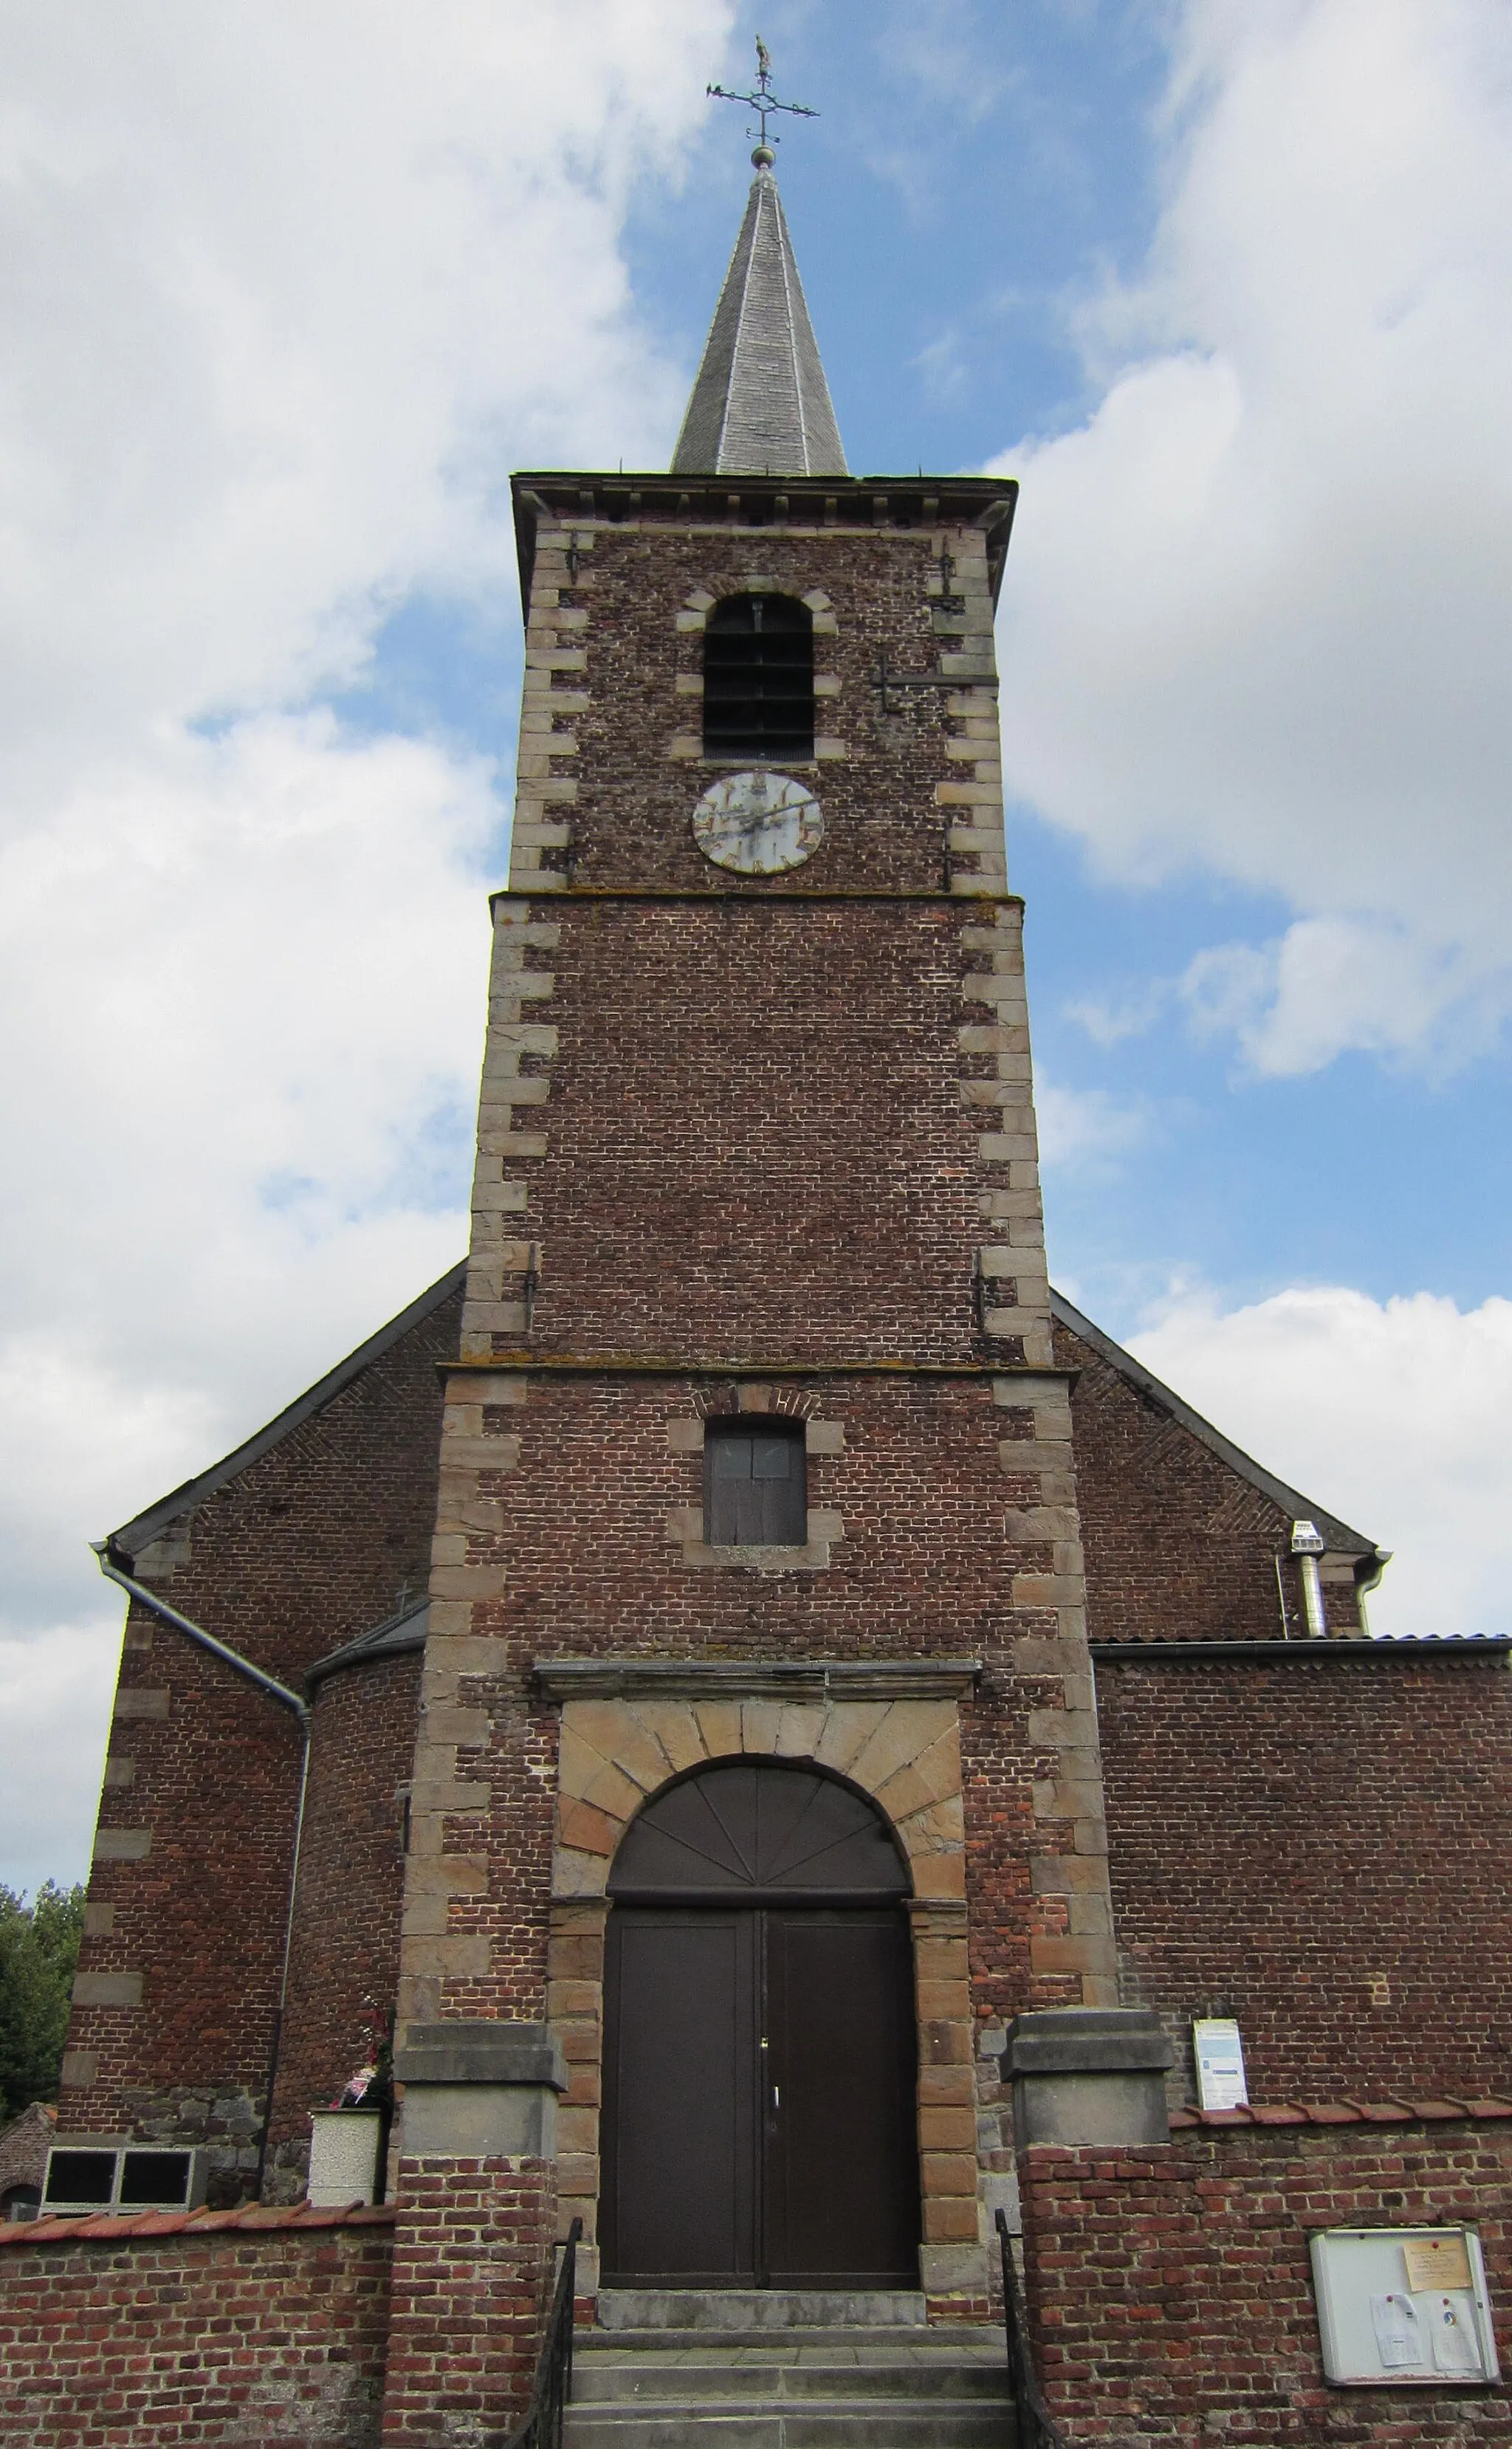
POLYGON ((1130 1349, 1228 1438, 1394 1550, 1380 1633, 1512 1631, 1512 1300, 1345 1286, 1179 1296, 1130 1349))

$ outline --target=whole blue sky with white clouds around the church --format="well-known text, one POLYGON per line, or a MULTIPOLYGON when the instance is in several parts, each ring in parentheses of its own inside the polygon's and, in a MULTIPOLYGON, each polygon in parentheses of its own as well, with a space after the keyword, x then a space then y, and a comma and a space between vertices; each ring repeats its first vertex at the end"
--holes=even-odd
POLYGON ((752 37, 850 468, 1022 482, 1051 1276, 1507 1631, 1502 0, 0 0, 0 1883, 88 1540, 463 1251, 510 468, 667 465, 752 37))

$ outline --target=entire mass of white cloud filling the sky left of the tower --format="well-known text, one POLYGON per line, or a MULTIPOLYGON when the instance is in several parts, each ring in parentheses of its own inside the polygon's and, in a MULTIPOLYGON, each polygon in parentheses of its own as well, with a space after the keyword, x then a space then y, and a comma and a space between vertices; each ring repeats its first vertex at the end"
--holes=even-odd
POLYGON ((500 776, 309 705, 507 602, 510 465, 664 456, 620 233, 730 17, 0 0, 0 1878, 83 1861, 86 1540, 463 1247, 500 776))

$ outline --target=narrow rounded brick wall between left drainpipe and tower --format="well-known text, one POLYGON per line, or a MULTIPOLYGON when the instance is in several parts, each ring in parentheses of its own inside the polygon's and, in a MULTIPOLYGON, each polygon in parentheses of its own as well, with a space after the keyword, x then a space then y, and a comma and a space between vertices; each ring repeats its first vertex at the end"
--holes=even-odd
POLYGON ((353 1660, 316 1685, 265 2185, 277 2202, 304 2194, 309 2111, 370 2060, 395 2008, 417 1700, 417 1651, 353 1660))

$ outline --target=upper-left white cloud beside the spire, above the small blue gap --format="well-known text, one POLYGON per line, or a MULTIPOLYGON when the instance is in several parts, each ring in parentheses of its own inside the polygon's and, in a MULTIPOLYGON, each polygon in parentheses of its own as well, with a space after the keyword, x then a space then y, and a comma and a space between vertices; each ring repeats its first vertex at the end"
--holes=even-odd
POLYGON ((505 578, 512 463, 671 429, 618 235, 725 0, 5 20, 10 757, 277 700, 385 595, 505 578))

